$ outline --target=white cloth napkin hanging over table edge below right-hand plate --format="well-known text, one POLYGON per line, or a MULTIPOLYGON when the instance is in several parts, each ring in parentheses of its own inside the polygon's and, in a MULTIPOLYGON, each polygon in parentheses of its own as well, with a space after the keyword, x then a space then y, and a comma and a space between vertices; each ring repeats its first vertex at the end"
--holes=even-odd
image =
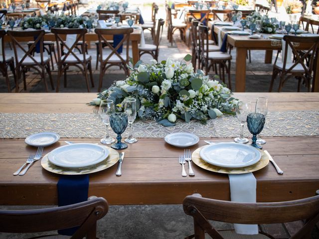
MULTIPOLYGON (((230 200, 240 203, 256 203, 257 181, 253 173, 228 174, 230 200)), ((237 234, 257 235, 258 225, 234 224, 237 234)))

